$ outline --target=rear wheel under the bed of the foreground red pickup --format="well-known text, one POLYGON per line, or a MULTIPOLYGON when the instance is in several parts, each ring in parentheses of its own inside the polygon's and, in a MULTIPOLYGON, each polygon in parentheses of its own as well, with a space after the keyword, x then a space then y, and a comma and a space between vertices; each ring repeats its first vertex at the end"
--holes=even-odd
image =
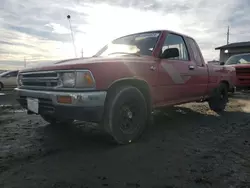
POLYGON ((211 97, 208 100, 208 104, 211 110, 215 112, 222 112, 225 110, 228 102, 228 87, 226 84, 221 83, 216 88, 211 97))

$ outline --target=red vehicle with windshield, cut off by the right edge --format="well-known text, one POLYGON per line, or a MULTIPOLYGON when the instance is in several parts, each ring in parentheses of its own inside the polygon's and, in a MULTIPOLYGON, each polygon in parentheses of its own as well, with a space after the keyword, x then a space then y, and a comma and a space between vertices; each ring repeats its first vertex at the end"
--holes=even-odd
POLYGON ((235 67, 237 89, 250 89, 250 53, 233 55, 221 65, 235 67))

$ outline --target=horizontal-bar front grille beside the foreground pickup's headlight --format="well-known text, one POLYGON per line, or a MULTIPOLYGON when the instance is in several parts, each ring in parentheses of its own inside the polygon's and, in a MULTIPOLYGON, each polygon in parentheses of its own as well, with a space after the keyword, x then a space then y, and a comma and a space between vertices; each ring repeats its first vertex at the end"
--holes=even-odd
POLYGON ((22 86, 29 88, 52 88, 59 85, 57 72, 22 73, 22 86))

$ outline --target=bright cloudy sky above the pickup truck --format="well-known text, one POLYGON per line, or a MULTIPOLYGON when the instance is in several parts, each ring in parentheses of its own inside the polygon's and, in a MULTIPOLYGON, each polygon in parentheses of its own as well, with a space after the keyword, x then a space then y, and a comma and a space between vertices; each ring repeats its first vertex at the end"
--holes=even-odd
POLYGON ((94 55, 111 40, 167 29, 192 36, 205 60, 214 48, 250 41, 249 0, 0 0, 0 69, 94 55))

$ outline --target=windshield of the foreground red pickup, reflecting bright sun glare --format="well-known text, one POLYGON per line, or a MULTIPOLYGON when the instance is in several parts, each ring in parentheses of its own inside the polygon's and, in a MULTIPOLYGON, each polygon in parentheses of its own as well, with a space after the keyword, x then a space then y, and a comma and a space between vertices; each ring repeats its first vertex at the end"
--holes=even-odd
POLYGON ((95 56, 135 54, 151 56, 160 32, 137 33, 115 39, 104 46, 95 56))

